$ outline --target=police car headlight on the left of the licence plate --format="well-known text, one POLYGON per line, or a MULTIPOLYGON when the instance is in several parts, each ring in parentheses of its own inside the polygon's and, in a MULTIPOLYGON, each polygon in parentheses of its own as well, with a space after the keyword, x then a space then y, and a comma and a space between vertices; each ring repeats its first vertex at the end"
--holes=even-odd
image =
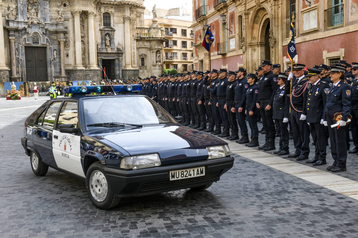
POLYGON ((147 155, 128 156, 121 159, 121 168, 137 169, 160 166, 161 161, 158 153, 147 155))

